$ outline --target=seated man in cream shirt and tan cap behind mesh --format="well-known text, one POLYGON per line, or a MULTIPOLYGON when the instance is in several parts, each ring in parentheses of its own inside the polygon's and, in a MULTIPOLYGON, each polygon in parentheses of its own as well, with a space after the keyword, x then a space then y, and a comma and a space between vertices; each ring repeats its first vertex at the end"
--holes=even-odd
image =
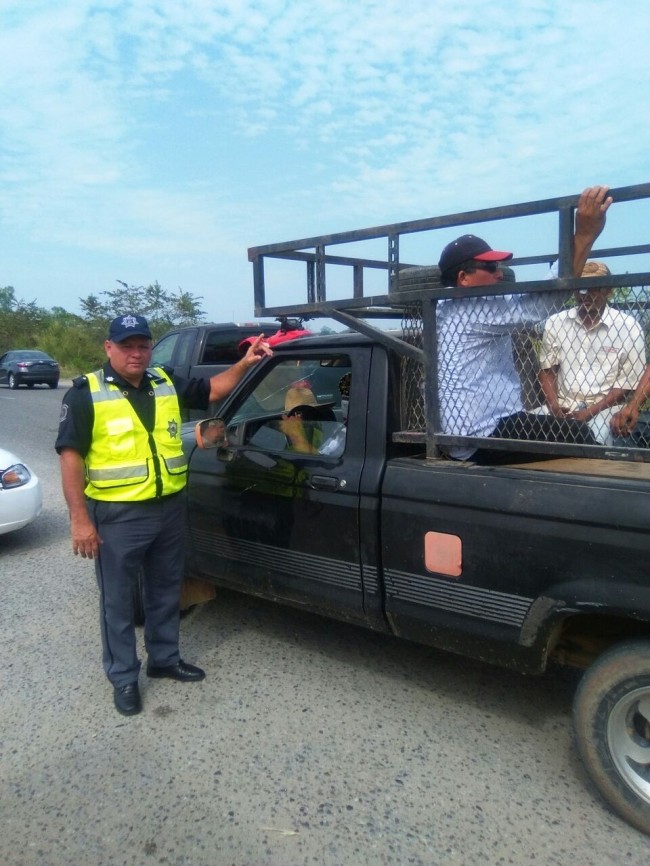
MULTIPOLYGON (((587 262, 582 276, 608 276, 603 262, 587 262)), ((545 411, 586 421, 594 437, 612 445, 610 421, 637 386, 646 363, 645 337, 633 316, 607 303, 611 288, 580 289, 575 306, 544 327, 539 381, 545 411)))

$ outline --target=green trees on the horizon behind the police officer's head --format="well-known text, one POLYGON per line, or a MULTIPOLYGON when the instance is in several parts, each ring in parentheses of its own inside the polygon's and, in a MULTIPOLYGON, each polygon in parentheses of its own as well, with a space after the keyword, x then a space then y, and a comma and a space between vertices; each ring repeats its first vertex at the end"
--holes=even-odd
POLYGON ((191 292, 167 292, 158 282, 148 286, 117 282, 112 291, 80 298, 80 314, 58 306, 39 307, 36 301, 16 297, 13 286, 0 288, 0 355, 9 349, 40 349, 55 358, 65 373, 76 375, 101 366, 109 323, 121 313, 146 316, 154 340, 170 328, 194 325, 205 316, 203 298, 191 292))

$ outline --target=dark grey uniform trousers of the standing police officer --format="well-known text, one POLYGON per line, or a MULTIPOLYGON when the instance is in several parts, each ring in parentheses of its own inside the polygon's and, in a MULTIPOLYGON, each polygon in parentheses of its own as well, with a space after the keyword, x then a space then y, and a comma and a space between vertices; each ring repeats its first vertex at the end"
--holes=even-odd
POLYGON ((133 588, 142 569, 144 642, 156 667, 179 659, 179 600, 185 560, 185 496, 145 502, 88 500, 101 544, 95 560, 106 676, 115 686, 135 682, 140 672, 133 588))

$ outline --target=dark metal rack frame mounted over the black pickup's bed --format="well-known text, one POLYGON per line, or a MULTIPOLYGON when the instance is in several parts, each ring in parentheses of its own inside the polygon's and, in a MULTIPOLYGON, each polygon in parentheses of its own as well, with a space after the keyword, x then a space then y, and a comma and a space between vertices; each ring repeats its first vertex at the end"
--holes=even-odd
MULTIPOLYGON (((630 202, 650 198, 650 183, 619 187, 610 190, 615 202, 630 202)), ((426 404, 426 434, 414 437, 410 431, 402 431, 395 435, 398 441, 413 441, 414 438, 426 442, 427 456, 439 454, 439 445, 476 444, 477 446, 495 447, 507 450, 521 450, 521 445, 515 441, 485 439, 468 439, 436 433, 439 429, 437 374, 436 374, 436 333, 435 306, 439 300, 446 298, 474 297, 485 295, 507 295, 513 293, 512 283, 500 283, 489 287, 474 287, 473 289, 458 289, 445 287, 418 288, 413 291, 400 290, 400 273, 406 268, 418 268, 421 265, 406 263, 400 260, 400 239, 404 235, 430 232, 449 227, 462 227, 477 223, 492 223, 499 220, 534 216, 539 214, 557 215, 557 251, 534 256, 513 258, 509 265, 531 265, 559 260, 559 278, 556 280, 518 281, 517 293, 540 292, 549 290, 563 293, 580 288, 620 288, 633 286, 650 286, 650 272, 633 274, 615 274, 609 277, 570 276, 573 256, 573 231, 575 211, 579 195, 550 198, 541 201, 524 202, 482 210, 465 211, 440 217, 393 223, 336 234, 320 235, 302 238, 295 241, 285 241, 277 244, 251 247, 248 250, 249 261, 253 264, 253 279, 255 293, 256 316, 298 316, 302 318, 325 317, 371 336, 383 345, 393 349, 401 356, 411 358, 424 365, 425 371, 425 404, 426 404), (343 244, 384 239, 386 242, 386 258, 371 259, 359 256, 337 255, 329 252, 329 248, 343 244), (265 263, 268 259, 295 261, 305 265, 306 301, 284 306, 267 306, 265 289, 265 263), (344 300, 328 301, 326 285, 326 266, 338 265, 351 269, 351 296, 344 300), (386 273, 386 293, 382 295, 364 294, 364 277, 366 271, 380 270, 386 273), (405 310, 414 303, 421 305, 423 320, 423 348, 400 340, 387 334, 366 320, 401 318, 405 310)), ((616 258, 620 256, 650 253, 650 244, 599 248, 592 250, 590 258, 616 258)), ((646 458, 643 449, 607 449, 605 446, 574 446, 555 443, 527 442, 526 450, 562 455, 609 457, 618 459, 646 458)))

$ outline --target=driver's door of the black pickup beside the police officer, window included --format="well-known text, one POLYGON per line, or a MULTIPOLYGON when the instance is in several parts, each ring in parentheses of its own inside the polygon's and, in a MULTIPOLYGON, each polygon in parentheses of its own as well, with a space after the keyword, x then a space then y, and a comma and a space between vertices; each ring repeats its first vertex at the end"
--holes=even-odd
POLYGON ((193 570, 363 620, 369 361, 369 348, 283 352, 226 404, 226 444, 190 461, 193 570))

